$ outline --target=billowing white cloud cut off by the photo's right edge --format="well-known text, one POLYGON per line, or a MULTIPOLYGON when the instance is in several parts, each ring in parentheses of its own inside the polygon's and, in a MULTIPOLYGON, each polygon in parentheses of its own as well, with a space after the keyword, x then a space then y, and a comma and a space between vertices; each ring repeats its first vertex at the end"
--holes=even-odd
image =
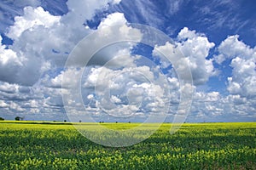
POLYGON ((256 48, 250 48, 238 40, 238 36, 227 37, 218 47, 218 63, 231 59, 232 77, 228 77, 230 94, 248 98, 256 95, 256 48))

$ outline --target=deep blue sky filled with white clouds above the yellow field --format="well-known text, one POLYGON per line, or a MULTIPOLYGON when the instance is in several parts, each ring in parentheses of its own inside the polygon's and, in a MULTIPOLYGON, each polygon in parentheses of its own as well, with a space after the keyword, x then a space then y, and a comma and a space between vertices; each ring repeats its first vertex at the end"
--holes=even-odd
POLYGON ((255 18, 253 0, 1 1, 0 116, 255 122, 255 18))

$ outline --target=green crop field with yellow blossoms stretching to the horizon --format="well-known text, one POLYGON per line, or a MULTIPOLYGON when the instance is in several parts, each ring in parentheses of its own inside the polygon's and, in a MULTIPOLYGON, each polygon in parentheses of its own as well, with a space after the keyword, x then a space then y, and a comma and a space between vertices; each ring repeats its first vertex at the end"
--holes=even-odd
POLYGON ((170 126, 139 144, 112 148, 68 123, 3 121, 0 169, 256 169, 256 122, 185 123, 172 135, 170 126))

